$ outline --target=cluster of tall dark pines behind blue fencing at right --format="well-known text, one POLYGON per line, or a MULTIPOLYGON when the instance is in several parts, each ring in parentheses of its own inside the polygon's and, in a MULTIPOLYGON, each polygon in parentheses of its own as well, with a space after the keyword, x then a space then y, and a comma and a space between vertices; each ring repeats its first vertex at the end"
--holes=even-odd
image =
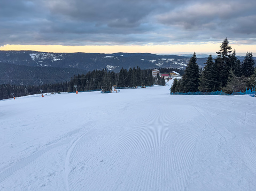
POLYGON ((213 59, 208 56, 203 70, 199 69, 196 53, 189 60, 182 79, 174 79, 171 92, 215 92, 223 90, 228 94, 244 92, 246 88, 255 86, 256 69, 252 52, 247 52, 243 62, 231 51, 228 39, 224 39, 220 51, 213 59))

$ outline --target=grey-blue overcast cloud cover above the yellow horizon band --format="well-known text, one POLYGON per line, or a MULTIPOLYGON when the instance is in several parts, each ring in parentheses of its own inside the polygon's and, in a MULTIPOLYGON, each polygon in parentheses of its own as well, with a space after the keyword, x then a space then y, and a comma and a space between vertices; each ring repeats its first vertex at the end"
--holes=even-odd
POLYGON ((227 37, 252 47, 255 9, 255 0, 3 0, 0 46, 174 46, 227 37))

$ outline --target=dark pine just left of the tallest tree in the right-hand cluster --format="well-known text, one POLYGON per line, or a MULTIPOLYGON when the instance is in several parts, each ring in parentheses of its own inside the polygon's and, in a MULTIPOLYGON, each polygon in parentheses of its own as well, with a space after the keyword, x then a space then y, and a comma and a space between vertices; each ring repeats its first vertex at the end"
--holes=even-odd
POLYGON ((215 63, 213 62, 212 55, 208 56, 208 59, 205 63, 204 70, 201 73, 199 81, 199 90, 201 92, 214 92, 218 89, 218 80, 219 73, 216 68, 215 63))

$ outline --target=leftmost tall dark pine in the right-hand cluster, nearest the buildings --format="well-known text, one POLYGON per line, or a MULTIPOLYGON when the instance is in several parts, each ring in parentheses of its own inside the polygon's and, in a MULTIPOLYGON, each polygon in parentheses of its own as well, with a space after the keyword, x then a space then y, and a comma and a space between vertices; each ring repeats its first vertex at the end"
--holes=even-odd
POLYGON ((187 68, 185 69, 185 73, 183 75, 183 83, 184 83, 184 91, 185 92, 197 92, 199 87, 199 67, 196 63, 197 56, 196 53, 193 54, 187 68))

